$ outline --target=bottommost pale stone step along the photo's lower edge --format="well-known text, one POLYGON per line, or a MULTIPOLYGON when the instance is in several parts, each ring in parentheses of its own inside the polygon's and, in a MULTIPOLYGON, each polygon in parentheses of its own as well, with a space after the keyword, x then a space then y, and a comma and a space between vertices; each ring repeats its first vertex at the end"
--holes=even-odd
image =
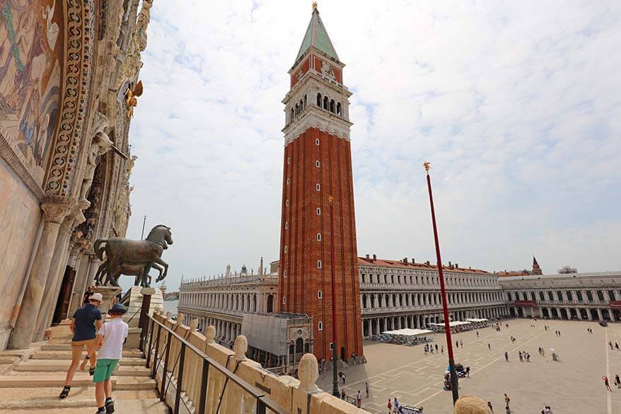
MULTIPOLYGON (((0 403, 2 404, 2 403, 0 403)), ((0 407, 2 407, 0 405, 0 407)), ((95 413, 95 398, 83 400, 61 400, 59 398, 40 398, 37 401, 23 401, 7 408, 0 408, 0 414, 84 414, 95 413), (87 408, 92 408, 89 411, 87 408), (44 410, 45 409, 45 410, 44 410)), ((141 400, 116 400, 115 414, 169 414, 170 408, 159 398, 141 400)))

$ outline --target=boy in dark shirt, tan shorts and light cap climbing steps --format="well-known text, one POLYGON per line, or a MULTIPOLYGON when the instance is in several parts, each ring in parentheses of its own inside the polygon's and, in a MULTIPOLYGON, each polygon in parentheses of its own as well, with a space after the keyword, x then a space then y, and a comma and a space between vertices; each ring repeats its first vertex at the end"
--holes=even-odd
MULTIPOLYGON (((71 318, 71 324, 69 328, 74 333, 71 338, 71 365, 67 370, 67 374, 64 381, 64 387, 59 395, 59 398, 66 398, 71 391, 71 381, 74 379, 74 374, 82 351, 86 346, 87 355, 90 355, 91 369, 89 372, 93 374, 95 372, 95 364, 97 357, 95 355, 95 348, 97 347, 97 335, 95 333, 101 327, 101 312, 97 309, 97 306, 101 304, 103 297, 100 293, 93 293, 88 298, 88 304, 83 305, 76 310, 74 317, 71 318)), ((80 368, 86 369, 86 359, 82 362, 80 368)))

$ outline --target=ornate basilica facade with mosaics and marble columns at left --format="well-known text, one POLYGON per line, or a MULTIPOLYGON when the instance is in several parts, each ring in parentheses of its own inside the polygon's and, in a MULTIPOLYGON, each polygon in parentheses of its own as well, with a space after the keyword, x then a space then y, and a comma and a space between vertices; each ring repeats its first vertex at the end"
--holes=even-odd
POLYGON ((131 214, 129 124, 152 0, 11 0, 0 14, 0 350, 71 314, 96 238, 131 214), (140 4, 140 7, 139 7, 140 4))

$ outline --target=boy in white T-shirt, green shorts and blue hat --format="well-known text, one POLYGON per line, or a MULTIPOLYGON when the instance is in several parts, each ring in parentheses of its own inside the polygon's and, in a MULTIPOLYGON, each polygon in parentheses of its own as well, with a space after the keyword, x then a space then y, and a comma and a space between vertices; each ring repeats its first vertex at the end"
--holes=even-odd
POLYGON ((122 357, 123 344, 129 332, 129 326, 122 319, 125 312, 127 312, 125 306, 114 304, 112 309, 108 311, 112 320, 104 323, 97 333, 97 340, 101 345, 97 367, 95 367, 95 374, 93 375, 97 414, 115 412, 110 376, 112 376, 112 371, 115 370, 122 357))

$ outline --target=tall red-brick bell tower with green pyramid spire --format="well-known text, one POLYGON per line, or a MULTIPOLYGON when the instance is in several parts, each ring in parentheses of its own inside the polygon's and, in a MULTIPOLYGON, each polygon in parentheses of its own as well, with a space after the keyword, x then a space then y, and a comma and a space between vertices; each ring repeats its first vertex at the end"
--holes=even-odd
POLYGON ((344 64, 313 6, 306 35, 289 70, 286 94, 280 237, 280 310, 313 317, 314 354, 330 360, 332 306, 337 354, 362 355, 349 92, 344 64), (330 234, 333 197, 334 234, 330 234), (335 263, 330 261, 332 238, 335 263), (335 292, 331 270, 335 266, 335 292))

